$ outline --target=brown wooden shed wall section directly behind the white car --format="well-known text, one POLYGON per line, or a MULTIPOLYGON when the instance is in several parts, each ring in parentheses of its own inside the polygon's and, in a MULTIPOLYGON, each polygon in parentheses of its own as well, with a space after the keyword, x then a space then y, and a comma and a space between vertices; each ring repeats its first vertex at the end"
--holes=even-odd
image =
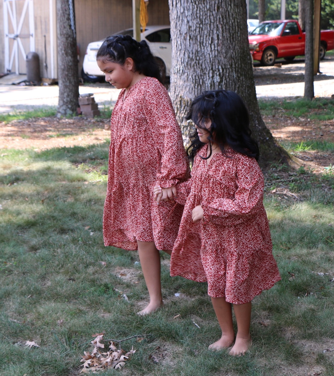
MULTIPOLYGON (((132 27, 132 0, 75 0, 81 71, 88 43, 132 27)), ((169 25, 168 0, 150 0, 148 25, 169 25)))

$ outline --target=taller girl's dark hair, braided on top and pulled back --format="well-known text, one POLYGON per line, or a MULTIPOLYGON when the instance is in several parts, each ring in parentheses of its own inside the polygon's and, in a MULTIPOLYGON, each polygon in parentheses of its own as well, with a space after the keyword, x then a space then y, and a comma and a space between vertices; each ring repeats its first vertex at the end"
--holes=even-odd
POLYGON ((137 42, 130 35, 108 36, 99 48, 96 59, 124 65, 131 58, 135 70, 162 82, 161 71, 146 41, 137 42))

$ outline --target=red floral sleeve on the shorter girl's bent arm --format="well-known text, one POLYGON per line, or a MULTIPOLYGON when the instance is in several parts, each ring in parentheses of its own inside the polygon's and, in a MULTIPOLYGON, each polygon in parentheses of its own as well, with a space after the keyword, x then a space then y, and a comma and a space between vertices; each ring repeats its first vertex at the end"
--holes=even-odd
MULTIPOLYGON (((202 202, 204 220, 231 226, 243 223, 262 210, 264 179, 254 158, 241 158, 237 163, 238 188, 233 199, 206 199, 202 202)), ((214 196, 215 193, 213 192, 214 196)))

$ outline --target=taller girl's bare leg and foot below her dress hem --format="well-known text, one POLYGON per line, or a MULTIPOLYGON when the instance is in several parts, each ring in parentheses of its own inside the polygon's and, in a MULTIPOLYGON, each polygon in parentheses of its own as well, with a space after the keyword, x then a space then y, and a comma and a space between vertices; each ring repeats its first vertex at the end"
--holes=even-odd
MULTIPOLYGON (((153 241, 137 240, 138 255, 146 282, 150 303, 138 315, 151 313, 163 305, 161 294, 160 253, 153 241)), ((169 253, 169 251, 166 251, 169 253)))

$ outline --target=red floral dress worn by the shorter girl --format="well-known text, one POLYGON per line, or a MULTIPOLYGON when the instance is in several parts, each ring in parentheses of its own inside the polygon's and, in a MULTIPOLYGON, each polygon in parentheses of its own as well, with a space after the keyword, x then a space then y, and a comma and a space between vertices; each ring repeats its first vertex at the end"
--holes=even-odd
POLYGON ((232 149, 213 155, 207 166, 199 157, 206 152, 207 145, 195 156, 192 178, 177 186, 178 202, 186 202, 171 276, 207 281, 210 296, 248 303, 281 279, 263 206, 263 175, 254 158, 232 149), (204 219, 193 223, 197 205, 204 219))

